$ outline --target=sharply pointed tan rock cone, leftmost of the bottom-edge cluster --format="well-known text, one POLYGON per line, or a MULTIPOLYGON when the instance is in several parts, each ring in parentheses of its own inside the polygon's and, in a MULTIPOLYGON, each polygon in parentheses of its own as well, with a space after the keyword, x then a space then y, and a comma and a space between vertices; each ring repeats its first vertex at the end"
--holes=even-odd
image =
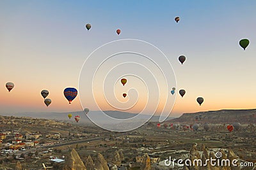
POLYGON ((65 170, 86 170, 83 161, 74 148, 70 152, 70 155, 67 159, 65 170))

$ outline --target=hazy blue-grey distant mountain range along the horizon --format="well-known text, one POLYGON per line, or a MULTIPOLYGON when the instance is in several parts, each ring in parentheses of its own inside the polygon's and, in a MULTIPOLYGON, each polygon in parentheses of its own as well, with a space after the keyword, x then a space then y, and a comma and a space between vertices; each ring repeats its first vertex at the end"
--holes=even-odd
MULTIPOLYGON (((90 117, 97 118, 97 121, 104 122, 104 123, 108 124, 108 122, 106 122, 106 120, 104 118, 102 118, 100 113, 101 113, 100 111, 90 111, 90 113, 88 113, 88 114, 90 114, 90 117)), ((122 112, 122 111, 104 111, 104 113, 106 113, 110 117, 119 118, 119 119, 132 118, 132 117, 135 117, 136 115, 138 115, 138 114, 135 114, 135 113, 128 113, 128 112, 122 112)), ((56 120, 66 120, 66 121, 71 121, 71 122, 74 122, 74 117, 76 115, 79 115, 81 117, 79 122, 81 122, 81 123, 90 123, 91 122, 89 120, 89 118, 86 117, 86 115, 84 114, 84 111, 74 111, 74 112, 68 112, 68 113, 56 113, 56 112, 33 113, 33 112, 26 112, 26 113, 6 113, 6 114, 1 114, 1 115, 15 116, 15 117, 33 117, 33 118, 56 119, 56 120), (71 119, 68 118, 69 113, 72 114, 71 119)), ((148 115, 141 115, 140 120, 138 120, 138 121, 141 121, 141 119, 145 120, 147 118, 148 118, 148 115)), ((173 119, 173 117, 168 117, 166 120, 171 120, 171 119, 173 119)), ((152 117, 150 119, 150 121, 152 121, 152 122, 159 121, 159 116, 152 117)))

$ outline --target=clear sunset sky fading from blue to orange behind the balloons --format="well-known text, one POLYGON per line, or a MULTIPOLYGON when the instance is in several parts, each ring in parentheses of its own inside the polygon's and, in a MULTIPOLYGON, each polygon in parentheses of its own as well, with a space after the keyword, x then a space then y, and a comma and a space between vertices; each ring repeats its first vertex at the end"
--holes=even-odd
MULTIPOLYGON (((125 111, 132 113, 140 112, 147 104, 150 105, 147 112, 161 112, 166 96, 172 100, 166 106, 172 110, 174 105, 171 117, 197 111, 255 108, 255 7, 253 0, 0 1, 0 113, 68 112, 83 110, 82 106, 90 110, 113 110, 106 103, 100 85, 105 87, 109 103, 120 109, 130 107, 131 110, 125 111), (177 16, 179 23, 174 21, 177 16), (90 31, 84 27, 87 23, 92 25, 90 31), (119 36, 116 29, 121 29, 119 36), (250 40, 246 50, 239 46, 243 38, 250 40), (88 68, 99 66, 106 53, 103 50, 95 58, 91 57, 85 69, 84 62, 93 50, 118 39, 140 39, 159 48, 172 66, 165 65, 163 56, 157 54, 153 58, 161 69, 172 70, 168 88, 176 87, 177 96, 166 91, 166 82, 154 68, 156 65, 135 55, 109 59, 98 78, 92 80, 94 72, 88 68), (180 55, 186 56, 183 65, 178 60, 180 55), (154 76, 144 73, 147 69, 141 69, 138 64, 113 69, 117 62, 133 60, 148 66, 154 76), (108 72, 111 76, 106 76, 109 79, 102 83, 108 72), (83 76, 79 79, 80 73, 83 76), (125 92, 129 88, 135 88, 136 92, 129 91, 125 99, 119 82, 121 73, 140 74, 137 78, 126 76, 129 79, 125 92), (154 78, 160 80, 155 82, 154 78), (15 83, 11 92, 5 88, 9 81, 15 83), (63 90, 79 89, 79 84, 83 85, 81 94, 68 104, 63 90), (47 98, 52 100, 49 107, 40 95, 44 89, 49 90, 47 98), (179 96, 179 89, 186 90, 184 97, 179 96), (159 96, 156 109, 152 104, 157 104, 155 99, 159 96), (204 97, 202 106, 196 103, 196 97, 204 97)), ((110 49, 115 50, 115 46, 110 49)), ((140 50, 147 52, 148 48, 140 50)))

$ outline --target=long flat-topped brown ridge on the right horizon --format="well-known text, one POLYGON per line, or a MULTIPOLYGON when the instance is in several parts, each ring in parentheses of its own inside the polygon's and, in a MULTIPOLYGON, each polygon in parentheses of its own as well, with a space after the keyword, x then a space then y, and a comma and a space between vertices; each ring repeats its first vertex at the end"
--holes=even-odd
POLYGON ((195 122, 195 116, 202 115, 202 122, 208 123, 256 123, 256 109, 252 110, 217 110, 184 113, 179 118, 167 122, 195 122))

